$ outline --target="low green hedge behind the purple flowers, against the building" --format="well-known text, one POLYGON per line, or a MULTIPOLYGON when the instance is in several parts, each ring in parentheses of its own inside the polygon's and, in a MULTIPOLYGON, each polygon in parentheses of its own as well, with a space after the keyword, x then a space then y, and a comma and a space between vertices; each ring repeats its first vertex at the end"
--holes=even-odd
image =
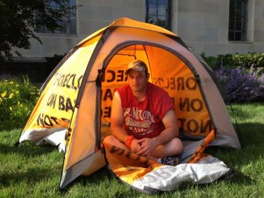
POLYGON ((201 57, 214 69, 222 66, 249 69, 253 66, 255 69, 261 67, 261 72, 264 73, 264 53, 225 54, 218 56, 205 56, 205 54, 202 53, 201 57))

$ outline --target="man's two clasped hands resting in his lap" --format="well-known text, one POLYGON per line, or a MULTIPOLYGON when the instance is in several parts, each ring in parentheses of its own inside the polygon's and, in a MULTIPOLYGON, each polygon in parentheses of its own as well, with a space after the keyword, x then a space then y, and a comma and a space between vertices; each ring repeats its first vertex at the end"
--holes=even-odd
POLYGON ((140 156, 149 156, 158 147, 157 138, 133 139, 131 142, 131 151, 140 156))

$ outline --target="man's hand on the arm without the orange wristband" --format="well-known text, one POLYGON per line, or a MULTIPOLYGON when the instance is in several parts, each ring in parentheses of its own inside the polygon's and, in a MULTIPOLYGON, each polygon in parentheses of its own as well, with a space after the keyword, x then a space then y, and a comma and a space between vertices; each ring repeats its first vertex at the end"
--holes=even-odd
POLYGON ((138 140, 138 142, 140 144, 140 151, 137 154, 140 156, 149 156, 159 145, 157 138, 143 138, 138 140))

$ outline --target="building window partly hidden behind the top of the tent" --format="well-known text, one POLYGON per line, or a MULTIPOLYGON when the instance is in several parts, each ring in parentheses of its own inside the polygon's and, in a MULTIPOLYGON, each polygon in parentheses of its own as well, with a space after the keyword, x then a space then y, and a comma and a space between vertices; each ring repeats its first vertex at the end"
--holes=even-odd
POLYGON ((146 0, 145 21, 171 30, 172 0, 146 0))

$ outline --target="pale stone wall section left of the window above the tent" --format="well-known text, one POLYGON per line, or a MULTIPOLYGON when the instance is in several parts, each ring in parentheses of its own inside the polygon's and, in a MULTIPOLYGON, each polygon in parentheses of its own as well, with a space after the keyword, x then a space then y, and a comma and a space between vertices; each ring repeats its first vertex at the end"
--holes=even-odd
POLYGON ((31 41, 31 49, 19 50, 24 57, 43 58, 64 54, 91 33, 119 17, 145 22, 144 0, 79 0, 76 12, 76 34, 38 33, 43 44, 31 41))

